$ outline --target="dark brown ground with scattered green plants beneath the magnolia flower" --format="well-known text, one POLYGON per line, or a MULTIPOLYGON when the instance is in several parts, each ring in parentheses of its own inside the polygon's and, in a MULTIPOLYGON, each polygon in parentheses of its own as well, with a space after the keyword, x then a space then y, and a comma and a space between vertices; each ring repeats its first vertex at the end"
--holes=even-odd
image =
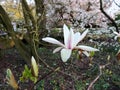
MULTIPOLYGON (((96 41, 99 42, 99 41, 96 41)), ((39 63, 40 81, 36 84, 35 90, 87 90, 89 84, 99 75, 99 66, 108 64, 103 70, 100 78, 93 84, 92 90, 120 90, 120 61, 116 59, 116 49, 119 44, 113 41, 105 41, 99 44, 86 42, 85 45, 100 48, 95 52, 92 60, 83 55, 78 60, 74 55, 63 63, 60 53, 53 54, 55 47, 40 47, 39 56, 42 61, 46 62, 48 68, 42 62, 39 63), (112 43, 112 44, 111 44, 112 43), (59 69, 57 71, 57 69, 59 69)), ((6 69, 10 68, 19 83, 21 90, 31 90, 32 82, 20 82, 25 62, 15 48, 1 50, 0 57, 0 90, 12 90, 6 83, 6 69)))

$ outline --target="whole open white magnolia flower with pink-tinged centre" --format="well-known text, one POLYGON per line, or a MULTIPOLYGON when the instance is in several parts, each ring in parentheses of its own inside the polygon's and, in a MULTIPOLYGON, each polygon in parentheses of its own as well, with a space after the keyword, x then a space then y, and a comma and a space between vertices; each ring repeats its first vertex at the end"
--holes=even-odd
POLYGON ((89 46, 84 46, 84 45, 78 45, 77 44, 83 40, 83 38, 86 36, 88 33, 88 30, 84 31, 82 34, 79 32, 74 33, 73 29, 68 27, 64 24, 63 26, 63 34, 64 34, 64 44, 59 42, 58 40, 51 38, 51 37, 46 37, 43 38, 43 41, 59 45, 60 47, 56 48, 53 53, 56 53, 61 50, 61 58, 63 62, 66 62, 72 53, 72 50, 80 50, 82 51, 85 55, 88 56, 88 53, 86 51, 99 51, 98 49, 89 47, 89 46))

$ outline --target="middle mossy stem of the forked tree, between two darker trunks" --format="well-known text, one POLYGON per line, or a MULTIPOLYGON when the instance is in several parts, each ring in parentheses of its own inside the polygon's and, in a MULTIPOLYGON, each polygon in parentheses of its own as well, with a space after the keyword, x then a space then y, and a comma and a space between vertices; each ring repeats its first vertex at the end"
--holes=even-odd
POLYGON ((27 26, 27 42, 29 43, 30 53, 38 61, 37 50, 39 46, 39 32, 36 17, 33 17, 32 12, 26 2, 21 0, 25 24, 27 26))

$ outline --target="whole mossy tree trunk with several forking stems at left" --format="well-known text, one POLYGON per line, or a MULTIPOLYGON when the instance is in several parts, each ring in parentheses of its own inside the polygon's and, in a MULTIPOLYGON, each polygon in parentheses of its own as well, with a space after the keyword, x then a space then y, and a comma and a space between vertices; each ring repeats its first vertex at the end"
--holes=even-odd
POLYGON ((42 38, 46 32, 44 0, 35 0, 35 4, 36 15, 34 17, 26 0, 21 0, 23 16, 27 28, 27 33, 24 36, 24 39, 28 43, 27 45, 16 36, 16 32, 13 29, 9 16, 2 6, 0 6, 0 22, 6 28, 8 35, 12 37, 16 49, 29 65, 32 56, 34 56, 37 61, 39 60, 37 55, 39 40, 41 40, 40 38, 42 38), (41 16, 39 16, 39 14, 41 14, 41 16))

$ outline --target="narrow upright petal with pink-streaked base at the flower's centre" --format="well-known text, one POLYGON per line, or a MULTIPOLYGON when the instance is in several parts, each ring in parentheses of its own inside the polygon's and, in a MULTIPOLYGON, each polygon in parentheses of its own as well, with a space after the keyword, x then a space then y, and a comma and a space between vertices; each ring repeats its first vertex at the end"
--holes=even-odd
POLYGON ((66 48, 68 49, 72 49, 73 48, 73 40, 74 40, 74 32, 73 32, 73 29, 70 28, 70 33, 69 33, 69 37, 68 37, 68 43, 67 43, 67 46, 66 48))

